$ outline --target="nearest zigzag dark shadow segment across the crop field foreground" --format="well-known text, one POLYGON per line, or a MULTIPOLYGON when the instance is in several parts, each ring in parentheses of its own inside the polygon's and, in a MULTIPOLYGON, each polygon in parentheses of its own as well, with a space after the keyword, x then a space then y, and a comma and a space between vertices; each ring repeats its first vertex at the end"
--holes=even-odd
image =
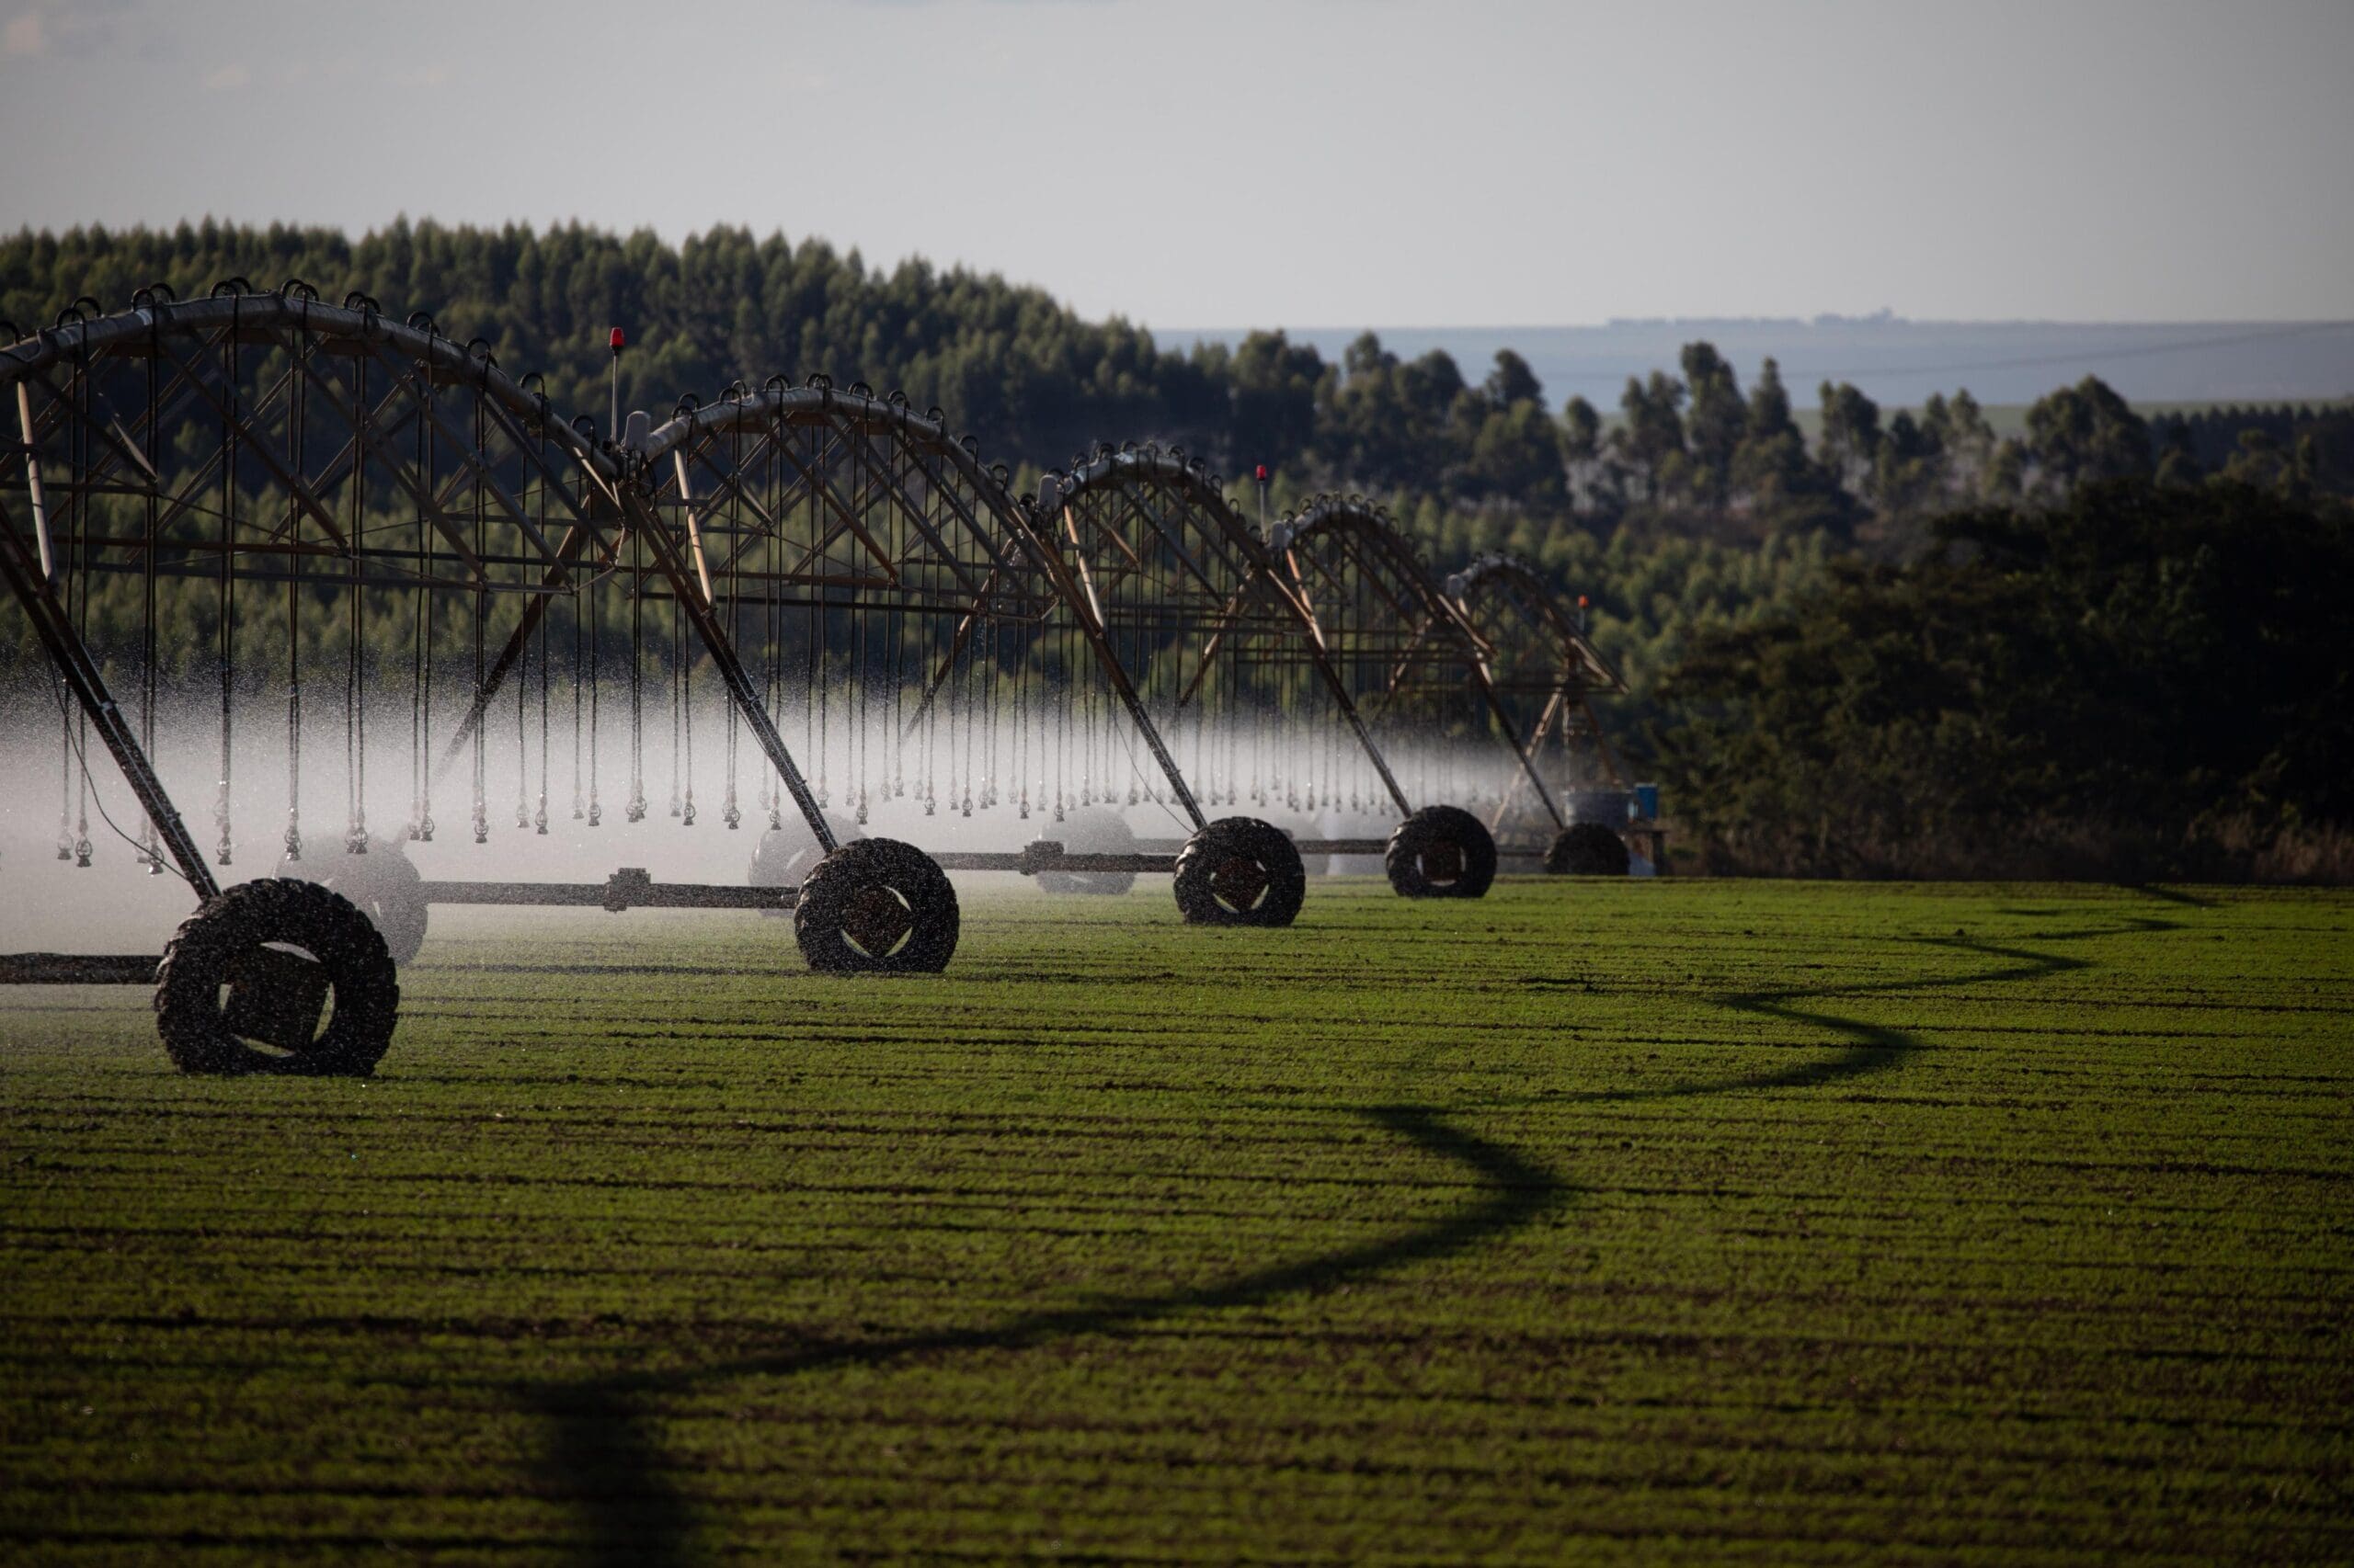
POLYGON ((690 1556, 692 1511, 666 1474, 647 1403, 727 1377, 796 1377, 836 1366, 885 1366, 909 1356, 1029 1349, 1071 1335, 1137 1328, 1179 1311, 1264 1307, 1384 1269, 1450 1257, 1514 1231, 1556 1208, 1568 1187, 1502 1144, 1450 1125, 1429 1107, 1372 1107, 1377 1125, 1412 1140, 1427 1154, 1464 1168, 1488 1191, 1469 1208, 1389 1241, 1274 1264, 1215 1285, 1036 1311, 993 1328, 942 1328, 897 1340, 796 1344, 777 1354, 737 1356, 680 1373, 621 1373, 588 1382, 530 1389, 530 1406, 548 1422, 544 1486, 572 1497, 588 1563, 680 1563, 690 1556))

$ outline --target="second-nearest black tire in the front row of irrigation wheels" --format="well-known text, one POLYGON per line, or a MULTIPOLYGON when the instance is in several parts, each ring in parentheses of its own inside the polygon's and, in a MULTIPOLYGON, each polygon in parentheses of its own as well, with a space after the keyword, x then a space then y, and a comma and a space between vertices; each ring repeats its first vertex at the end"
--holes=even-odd
POLYGON ((862 838, 800 881, 793 939, 826 975, 937 975, 956 954, 956 888, 897 838, 862 838))

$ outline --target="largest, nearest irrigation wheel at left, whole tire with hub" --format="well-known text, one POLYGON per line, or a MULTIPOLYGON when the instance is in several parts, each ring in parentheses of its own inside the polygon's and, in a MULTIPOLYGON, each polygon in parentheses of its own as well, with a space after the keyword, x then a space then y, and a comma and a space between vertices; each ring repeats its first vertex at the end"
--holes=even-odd
POLYGON ((155 970, 155 1031, 184 1074, 365 1078, 398 1012, 400 979, 370 918, 294 878, 226 888, 155 970))

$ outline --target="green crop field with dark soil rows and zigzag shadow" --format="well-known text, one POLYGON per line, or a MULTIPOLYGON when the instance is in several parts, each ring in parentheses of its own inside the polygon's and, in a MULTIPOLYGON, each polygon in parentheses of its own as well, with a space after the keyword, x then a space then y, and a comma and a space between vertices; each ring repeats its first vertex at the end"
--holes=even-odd
POLYGON ((9 1561, 2347 1561, 2354 897, 438 911, 0 996, 9 1561))

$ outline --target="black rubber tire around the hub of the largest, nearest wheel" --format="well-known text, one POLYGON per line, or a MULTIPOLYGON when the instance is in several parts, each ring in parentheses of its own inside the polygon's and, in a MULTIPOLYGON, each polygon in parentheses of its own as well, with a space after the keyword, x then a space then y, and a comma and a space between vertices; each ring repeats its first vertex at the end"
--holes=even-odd
POLYGON ((188 916, 155 970, 155 1031, 184 1074, 344 1074, 365 1078, 393 1043, 400 977, 351 899, 292 878, 238 883, 188 916), (320 963, 334 1005, 308 1045, 264 1050, 233 1034, 221 986, 264 944, 320 963))

